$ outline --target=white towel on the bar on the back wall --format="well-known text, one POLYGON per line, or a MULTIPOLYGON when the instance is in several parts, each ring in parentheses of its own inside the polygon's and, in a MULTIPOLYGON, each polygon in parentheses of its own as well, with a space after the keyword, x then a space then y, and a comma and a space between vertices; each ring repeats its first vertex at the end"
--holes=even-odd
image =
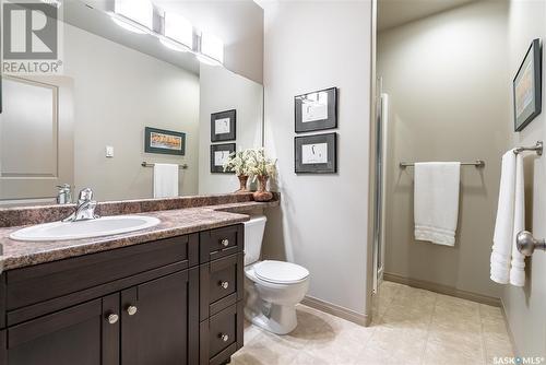
POLYGON ((415 164, 415 239, 454 246, 461 163, 415 164))

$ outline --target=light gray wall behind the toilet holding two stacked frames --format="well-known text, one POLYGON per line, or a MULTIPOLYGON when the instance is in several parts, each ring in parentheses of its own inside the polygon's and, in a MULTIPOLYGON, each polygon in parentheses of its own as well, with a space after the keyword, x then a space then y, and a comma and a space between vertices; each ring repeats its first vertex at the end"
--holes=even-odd
POLYGON ((309 296, 360 315, 368 290, 370 24, 370 1, 265 5, 265 148, 278 157, 282 198, 268 211, 263 255, 302 264, 309 296), (339 173, 295 175, 294 96, 331 86, 340 91, 339 173))

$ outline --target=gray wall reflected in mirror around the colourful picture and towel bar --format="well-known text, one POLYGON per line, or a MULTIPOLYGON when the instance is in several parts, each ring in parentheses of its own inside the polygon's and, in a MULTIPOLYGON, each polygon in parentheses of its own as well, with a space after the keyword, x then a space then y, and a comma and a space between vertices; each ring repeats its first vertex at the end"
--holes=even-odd
POLYGON ((199 78, 164 61, 64 25, 64 74, 74 80, 74 182, 96 199, 151 198, 142 161, 188 163, 180 195, 198 191, 199 78), (93 51, 90 51, 93 50, 93 51), (186 156, 144 153, 144 127, 187 133, 186 156), (105 146, 115 157, 105 157, 105 146))

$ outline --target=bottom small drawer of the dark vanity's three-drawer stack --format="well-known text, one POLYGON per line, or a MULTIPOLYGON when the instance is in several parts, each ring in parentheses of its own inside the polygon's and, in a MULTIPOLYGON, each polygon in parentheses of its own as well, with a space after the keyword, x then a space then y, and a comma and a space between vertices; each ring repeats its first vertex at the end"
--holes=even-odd
POLYGON ((242 348, 242 301, 201 322, 200 364, 219 365, 242 348))

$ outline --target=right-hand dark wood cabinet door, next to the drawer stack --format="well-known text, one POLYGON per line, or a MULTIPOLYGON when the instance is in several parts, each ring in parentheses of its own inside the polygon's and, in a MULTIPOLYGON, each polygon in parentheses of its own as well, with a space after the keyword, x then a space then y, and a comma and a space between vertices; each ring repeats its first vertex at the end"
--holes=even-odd
POLYGON ((121 292, 121 364, 198 363, 198 268, 121 292))

